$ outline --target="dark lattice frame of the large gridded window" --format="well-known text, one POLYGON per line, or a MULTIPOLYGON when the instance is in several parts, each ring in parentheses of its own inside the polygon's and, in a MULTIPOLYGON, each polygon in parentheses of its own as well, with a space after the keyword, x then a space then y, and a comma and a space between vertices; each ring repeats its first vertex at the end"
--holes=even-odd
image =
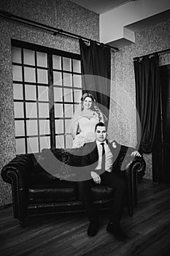
MULTIPOLYGON (((13 83, 13 86, 15 83, 18 83, 18 84, 21 84, 23 86, 23 99, 13 99, 13 102, 23 102, 23 118, 15 118, 15 120, 17 121, 24 121, 24 135, 22 136, 16 136, 15 135, 15 139, 19 139, 19 138, 24 138, 25 139, 25 152, 23 153, 36 153, 36 152, 28 152, 28 143, 27 143, 27 140, 28 138, 35 138, 37 137, 38 139, 38 152, 40 152, 42 150, 41 146, 40 146, 40 138, 42 137, 49 137, 50 136, 50 148, 55 148, 56 146, 58 147, 58 145, 56 145, 56 138, 57 136, 60 136, 62 135, 63 136, 63 147, 66 148, 66 127, 65 127, 65 120, 66 119, 70 119, 70 118, 67 118, 66 116, 64 116, 64 106, 67 105, 67 104, 70 104, 71 102, 65 102, 64 101, 64 94, 62 94, 62 102, 57 102, 54 100, 54 88, 61 88, 62 91, 64 89, 71 89, 72 90, 72 108, 73 108, 73 111, 74 111, 74 107, 75 105, 77 104, 77 102, 74 102, 74 90, 80 90, 82 91, 82 86, 81 87, 77 87, 77 86, 74 86, 74 80, 73 80, 73 75, 82 75, 81 74, 81 70, 80 70, 80 73, 79 72, 74 72, 73 71, 73 68, 71 71, 66 71, 63 69, 63 58, 69 58, 71 59, 72 61, 72 65, 71 67, 73 67, 73 61, 74 59, 75 60, 78 60, 80 61, 80 55, 79 54, 76 54, 76 53, 69 53, 69 52, 66 52, 66 51, 63 51, 63 50, 57 50, 57 49, 53 49, 53 48, 47 48, 45 46, 42 46, 42 45, 35 45, 35 44, 31 44, 31 43, 28 43, 28 42, 22 42, 22 41, 18 41, 18 40, 15 40, 15 39, 12 39, 12 42, 11 42, 11 45, 12 47, 17 47, 17 48, 21 48, 21 64, 18 64, 16 62, 13 62, 12 61, 12 67, 13 65, 18 65, 18 66, 21 66, 22 67, 22 75, 23 75, 23 79, 22 81, 18 81, 18 80, 13 80, 12 79, 12 83, 13 83), (35 51, 35 64, 34 65, 28 65, 28 64, 24 64, 23 62, 23 49, 28 49, 28 50, 34 50, 35 51), (30 83, 30 82, 26 82, 24 80, 24 67, 34 67, 35 66, 35 69, 41 69, 41 67, 37 66, 36 64, 36 52, 41 52, 41 53, 47 53, 47 67, 43 68, 42 69, 45 69, 47 70, 47 84, 42 84, 42 83, 38 83, 38 80, 37 80, 37 70, 36 70, 36 82, 35 83, 30 83), (61 56, 61 69, 58 70, 58 69, 54 69, 53 68, 53 56, 61 56), (54 85, 54 79, 53 79, 53 72, 61 72, 61 75, 62 75, 62 86, 58 86, 58 85, 54 85), (68 74, 71 74, 71 77, 72 77, 72 86, 64 86, 63 85, 63 74, 64 73, 68 73, 68 74), (35 100, 28 100, 26 99, 26 85, 32 85, 32 86, 36 86, 36 99, 35 100), (39 118, 39 102, 40 103, 43 103, 44 101, 39 101, 39 99, 37 99, 38 97, 38 89, 39 89, 39 86, 46 86, 48 88, 48 95, 49 95, 49 98, 48 98, 48 103, 49 103, 49 118, 44 118, 44 119, 47 119, 47 120, 50 120, 50 132, 49 132, 49 135, 45 134, 45 135, 40 135, 40 130, 39 130, 39 120, 44 120, 42 117, 39 118), (26 102, 36 102, 36 108, 37 108, 37 116, 36 118, 28 118, 26 116, 26 102), (55 104, 57 105, 58 103, 62 103, 63 105, 63 117, 60 117, 60 118, 56 118, 55 117, 55 104), (55 120, 63 120, 63 133, 56 133, 55 132, 55 120), (28 120, 36 120, 37 121, 37 136, 36 135, 28 135, 28 132, 27 132, 27 126, 26 126, 26 121, 28 120)), ((46 102, 46 103, 47 103, 46 102)), ((16 148, 17 150, 17 148, 16 148)), ((22 154, 22 153, 20 153, 22 154)))

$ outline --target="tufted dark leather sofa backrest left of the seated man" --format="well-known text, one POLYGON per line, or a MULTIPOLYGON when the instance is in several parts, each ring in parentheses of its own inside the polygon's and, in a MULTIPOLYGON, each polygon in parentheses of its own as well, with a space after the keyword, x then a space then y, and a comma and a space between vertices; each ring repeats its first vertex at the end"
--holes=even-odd
POLYGON ((82 148, 44 148, 42 153, 31 154, 31 179, 55 178, 75 181, 82 167, 82 148))

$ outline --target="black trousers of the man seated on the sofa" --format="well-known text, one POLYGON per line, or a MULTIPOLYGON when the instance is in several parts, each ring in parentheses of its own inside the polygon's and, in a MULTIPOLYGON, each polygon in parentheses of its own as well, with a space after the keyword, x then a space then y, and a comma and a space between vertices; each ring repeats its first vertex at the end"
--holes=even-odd
MULTIPOLYGON (((98 173, 98 170, 94 171, 98 173)), ((97 186, 108 186, 114 189, 114 200, 112 203, 109 220, 115 225, 119 225, 120 219, 123 215, 123 208, 125 203, 126 181, 123 177, 117 176, 115 173, 109 173, 107 171, 102 173, 100 177, 101 184, 98 184, 97 186)), ((93 179, 78 182, 80 198, 86 208, 90 222, 95 222, 98 219, 98 211, 93 203, 93 194, 90 189, 94 186, 94 184, 95 183, 93 179)))

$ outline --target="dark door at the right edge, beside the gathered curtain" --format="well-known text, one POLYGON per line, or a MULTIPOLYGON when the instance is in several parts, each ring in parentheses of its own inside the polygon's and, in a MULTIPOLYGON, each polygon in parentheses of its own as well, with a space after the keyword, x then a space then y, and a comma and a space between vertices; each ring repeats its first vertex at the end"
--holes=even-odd
POLYGON ((161 100, 156 138, 158 144, 152 151, 153 181, 170 184, 170 65, 159 67, 161 100))

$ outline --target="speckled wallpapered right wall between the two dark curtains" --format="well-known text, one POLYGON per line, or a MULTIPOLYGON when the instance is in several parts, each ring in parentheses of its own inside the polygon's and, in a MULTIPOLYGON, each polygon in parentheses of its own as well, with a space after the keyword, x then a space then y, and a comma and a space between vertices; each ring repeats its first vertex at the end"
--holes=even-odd
MULTIPOLYGON (((170 19, 158 23, 148 29, 136 32, 135 44, 120 48, 112 53, 112 97, 116 98, 120 105, 111 102, 112 118, 109 123, 109 133, 120 143, 136 146, 136 110, 135 81, 133 58, 147 53, 170 48, 170 19), (127 97, 125 98, 125 94, 127 97), (127 118, 128 116, 128 118, 127 118), (131 132, 127 132, 127 130, 131 132), (133 138, 131 138, 131 136, 133 138)), ((170 52, 160 55, 159 65, 170 64, 170 52)), ((146 178, 152 178, 152 155, 146 154, 147 162, 146 178)))

